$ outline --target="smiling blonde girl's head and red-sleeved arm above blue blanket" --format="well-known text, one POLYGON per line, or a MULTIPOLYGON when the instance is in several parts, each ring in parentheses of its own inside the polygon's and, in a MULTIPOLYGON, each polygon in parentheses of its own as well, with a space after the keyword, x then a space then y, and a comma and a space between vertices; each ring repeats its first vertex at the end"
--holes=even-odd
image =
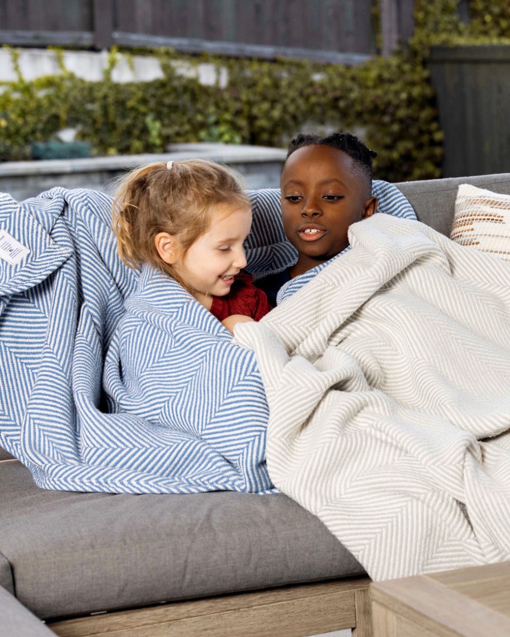
POLYGON ((230 331, 271 310, 243 271, 250 227, 240 175, 199 159, 129 173, 113 203, 122 261, 168 274, 230 331))

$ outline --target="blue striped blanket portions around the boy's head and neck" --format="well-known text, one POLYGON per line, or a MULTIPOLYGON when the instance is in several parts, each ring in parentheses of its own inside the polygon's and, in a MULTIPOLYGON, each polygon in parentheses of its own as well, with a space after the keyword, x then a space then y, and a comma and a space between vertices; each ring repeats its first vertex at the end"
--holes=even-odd
MULTIPOLYGON (((254 280, 257 280, 293 266, 298 259, 298 252, 286 239, 284 233, 280 190, 252 190, 249 195, 253 211, 253 224, 252 233, 246 241, 247 269, 252 273, 254 280)), ((372 182, 372 195, 379 200, 378 213, 416 220, 416 213, 411 204, 393 183, 374 180, 372 182)), ((287 282, 277 296, 277 303, 281 303, 301 289, 323 268, 334 259, 338 259, 347 250, 349 247, 330 261, 287 282)))

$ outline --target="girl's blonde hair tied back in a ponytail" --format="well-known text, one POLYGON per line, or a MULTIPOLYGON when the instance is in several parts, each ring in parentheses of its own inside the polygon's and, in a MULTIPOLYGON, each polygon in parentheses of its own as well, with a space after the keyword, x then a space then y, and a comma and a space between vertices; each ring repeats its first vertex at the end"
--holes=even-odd
POLYGON ((203 159, 158 162, 137 168, 119 184, 113 201, 113 231, 120 258, 129 268, 148 263, 173 276, 175 269, 159 257, 154 238, 178 237, 184 257, 206 233, 218 205, 249 208, 242 176, 227 166, 203 159))

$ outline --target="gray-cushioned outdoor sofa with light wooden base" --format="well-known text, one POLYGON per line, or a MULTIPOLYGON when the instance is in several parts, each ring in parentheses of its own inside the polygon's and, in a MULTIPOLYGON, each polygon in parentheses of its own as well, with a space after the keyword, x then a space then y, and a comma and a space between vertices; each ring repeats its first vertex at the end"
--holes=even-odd
MULTIPOLYGON (((510 174, 397 186, 449 234, 460 183, 510 194, 510 174)), ((4 459, 0 516, 4 637, 372 634, 363 568, 283 494, 41 490, 4 459)))

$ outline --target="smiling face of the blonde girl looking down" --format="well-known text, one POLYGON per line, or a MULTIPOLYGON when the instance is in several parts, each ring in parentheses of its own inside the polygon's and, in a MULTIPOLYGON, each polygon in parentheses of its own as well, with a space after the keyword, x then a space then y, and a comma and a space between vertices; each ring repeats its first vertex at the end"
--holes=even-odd
POLYGON ((211 296, 230 292, 234 276, 245 268, 244 241, 250 228, 250 208, 216 206, 208 231, 175 263, 176 273, 207 308, 211 296))

